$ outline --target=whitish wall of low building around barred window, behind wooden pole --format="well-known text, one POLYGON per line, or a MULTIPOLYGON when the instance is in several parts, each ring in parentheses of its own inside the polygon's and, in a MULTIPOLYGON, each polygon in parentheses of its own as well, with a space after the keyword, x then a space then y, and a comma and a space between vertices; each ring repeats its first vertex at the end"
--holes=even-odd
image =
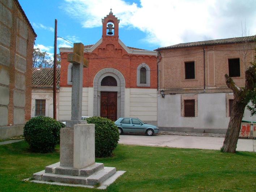
MULTIPOLYGON (((32 90, 31 92, 31 117, 35 116, 35 99, 45 99, 45 116, 53 118, 53 92, 49 90, 32 90)), ((59 93, 56 93, 57 120, 59 112, 59 93)))

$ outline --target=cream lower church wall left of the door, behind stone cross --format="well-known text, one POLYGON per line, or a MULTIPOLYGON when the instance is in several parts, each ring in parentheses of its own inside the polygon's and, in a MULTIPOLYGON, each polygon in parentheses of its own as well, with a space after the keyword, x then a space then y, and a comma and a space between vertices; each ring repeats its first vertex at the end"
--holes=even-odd
MULTIPOLYGON (((60 88, 59 93, 59 120, 71 119, 71 92, 72 88, 60 88)), ((91 94, 91 90, 90 90, 91 94)), ((83 88, 82 116, 88 116, 88 88, 83 88)), ((89 105, 89 107, 91 107, 89 105)))

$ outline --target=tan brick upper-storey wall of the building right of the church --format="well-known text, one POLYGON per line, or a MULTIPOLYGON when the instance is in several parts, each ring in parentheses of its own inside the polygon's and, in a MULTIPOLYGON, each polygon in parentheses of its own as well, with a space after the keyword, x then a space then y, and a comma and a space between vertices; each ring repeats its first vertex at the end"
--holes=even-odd
POLYGON ((236 85, 244 86, 244 71, 253 60, 255 43, 250 47, 244 64, 243 45, 223 44, 217 46, 188 47, 161 50, 159 62, 159 90, 166 93, 199 93, 204 89, 204 52, 205 49, 205 88, 206 92, 230 92, 225 83, 229 74, 228 59, 240 58, 240 77, 232 77, 236 85), (184 62, 195 61, 195 79, 185 79, 184 62))

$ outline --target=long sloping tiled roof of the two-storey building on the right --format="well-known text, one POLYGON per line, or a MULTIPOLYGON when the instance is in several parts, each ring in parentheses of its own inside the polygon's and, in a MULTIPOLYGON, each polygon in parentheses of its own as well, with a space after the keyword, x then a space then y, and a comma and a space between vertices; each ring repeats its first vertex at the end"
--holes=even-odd
POLYGON ((231 43, 241 43, 244 40, 248 42, 253 42, 256 38, 256 35, 248 36, 248 37, 234 37, 227 39, 214 39, 214 40, 205 40, 205 41, 197 41, 190 43, 179 43, 168 47, 159 47, 155 51, 163 50, 163 49, 174 49, 174 48, 183 48, 183 47, 196 47, 196 46, 209 46, 209 45, 217 45, 217 44, 231 44, 231 43))

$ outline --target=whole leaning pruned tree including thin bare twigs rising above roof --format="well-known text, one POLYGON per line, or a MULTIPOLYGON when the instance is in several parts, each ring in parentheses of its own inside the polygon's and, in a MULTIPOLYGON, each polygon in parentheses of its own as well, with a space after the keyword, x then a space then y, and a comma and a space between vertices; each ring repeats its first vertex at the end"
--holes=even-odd
MULTIPOLYGON (((247 35, 246 27, 242 28, 243 37, 247 35)), ((240 43, 238 47, 240 55, 242 55, 242 63, 243 68, 246 69, 247 66, 247 55, 251 54, 252 43, 251 40, 244 37, 243 42, 240 43)), ((248 62, 249 63, 249 62, 248 62)), ((245 71, 245 87, 239 88, 235 82, 225 74, 226 85, 230 88, 234 93, 234 101, 232 104, 232 111, 230 115, 229 126, 227 128, 227 133, 225 136, 225 140, 223 142, 223 146, 221 148, 222 152, 235 153, 236 145, 239 138, 240 126, 242 123, 242 118, 244 114, 244 109, 249 101, 252 99, 252 95, 255 91, 255 67, 256 65, 251 63, 252 65, 245 71)), ((254 93, 255 95, 255 93, 254 93)))

